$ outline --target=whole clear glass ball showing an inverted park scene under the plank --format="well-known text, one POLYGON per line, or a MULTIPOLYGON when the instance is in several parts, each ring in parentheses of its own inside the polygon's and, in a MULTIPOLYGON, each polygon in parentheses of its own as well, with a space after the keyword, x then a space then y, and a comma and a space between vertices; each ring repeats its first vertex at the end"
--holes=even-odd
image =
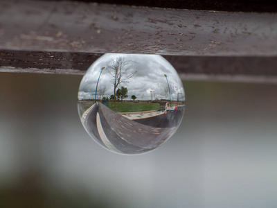
POLYGON ((102 55, 85 73, 78 92, 85 130, 100 146, 125 155, 164 144, 184 110, 181 79, 161 55, 102 55))

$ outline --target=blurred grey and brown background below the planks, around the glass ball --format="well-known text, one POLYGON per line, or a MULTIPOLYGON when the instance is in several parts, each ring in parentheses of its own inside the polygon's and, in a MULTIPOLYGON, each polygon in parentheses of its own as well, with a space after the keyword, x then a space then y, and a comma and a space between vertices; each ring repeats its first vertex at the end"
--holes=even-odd
POLYGON ((277 207, 277 85, 184 81, 177 133, 126 156, 82 127, 81 79, 0 73, 0 207, 277 207))

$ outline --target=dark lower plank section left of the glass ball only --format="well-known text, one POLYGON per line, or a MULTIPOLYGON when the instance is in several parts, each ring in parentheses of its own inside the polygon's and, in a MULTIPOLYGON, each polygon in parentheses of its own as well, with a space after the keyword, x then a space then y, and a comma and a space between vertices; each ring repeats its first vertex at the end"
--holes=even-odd
MULTIPOLYGON (((101 56, 100 53, 69 53, 45 51, 0 50, 0 67, 10 71, 33 71, 35 73, 83 74, 101 56)), ((0 69, 1 70, 1 69, 0 69)))

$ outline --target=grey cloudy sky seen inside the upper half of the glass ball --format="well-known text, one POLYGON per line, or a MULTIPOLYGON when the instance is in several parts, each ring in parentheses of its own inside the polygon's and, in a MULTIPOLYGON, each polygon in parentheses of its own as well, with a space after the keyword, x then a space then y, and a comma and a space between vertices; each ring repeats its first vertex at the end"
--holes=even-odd
POLYGON ((109 62, 116 60, 118 57, 123 57, 125 60, 132 61, 132 68, 128 71, 133 73, 136 71, 132 78, 129 78, 128 83, 122 83, 118 86, 127 87, 128 98, 131 99, 132 95, 136 96, 136 100, 154 100, 169 99, 168 83, 170 84, 170 91, 172 94, 171 100, 177 100, 179 93, 179 101, 184 101, 185 93, 184 88, 179 78, 178 73, 172 65, 160 55, 141 55, 141 54, 119 54, 107 53, 102 55, 91 67, 82 78, 78 99, 90 99, 95 97, 96 83, 102 71, 98 83, 98 94, 102 89, 105 89, 104 96, 109 97, 114 94, 114 77, 111 76, 111 69, 109 69, 109 62), (168 77, 168 83, 166 77, 168 77))

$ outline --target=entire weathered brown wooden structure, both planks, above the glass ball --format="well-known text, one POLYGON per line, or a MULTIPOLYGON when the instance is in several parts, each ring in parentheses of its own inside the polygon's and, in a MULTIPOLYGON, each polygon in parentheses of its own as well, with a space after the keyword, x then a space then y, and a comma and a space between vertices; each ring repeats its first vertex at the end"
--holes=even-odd
POLYGON ((0 71, 84 74, 103 53, 150 53, 163 55, 181 78, 277 80, 274 5, 103 2, 116 5, 0 1, 0 71), (200 10, 205 5, 217 11, 200 10))

